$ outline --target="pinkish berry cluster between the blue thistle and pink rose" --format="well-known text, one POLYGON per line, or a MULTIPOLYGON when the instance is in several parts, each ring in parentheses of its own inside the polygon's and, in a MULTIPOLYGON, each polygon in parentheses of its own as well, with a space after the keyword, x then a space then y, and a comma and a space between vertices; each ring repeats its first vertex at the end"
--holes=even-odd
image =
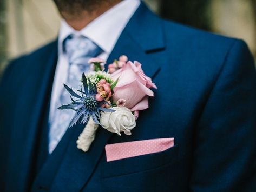
POLYGON ((97 101, 109 101, 109 98, 112 95, 112 90, 110 87, 110 83, 108 83, 105 79, 101 79, 99 83, 97 83, 97 94, 95 96, 97 101))

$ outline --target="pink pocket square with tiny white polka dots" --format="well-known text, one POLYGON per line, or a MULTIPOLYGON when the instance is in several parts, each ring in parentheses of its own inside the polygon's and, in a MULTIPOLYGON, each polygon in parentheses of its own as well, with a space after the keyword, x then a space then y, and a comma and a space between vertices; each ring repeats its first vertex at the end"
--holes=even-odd
POLYGON ((156 138, 151 140, 107 144, 105 150, 107 162, 110 162, 165 151, 173 146, 174 138, 156 138))

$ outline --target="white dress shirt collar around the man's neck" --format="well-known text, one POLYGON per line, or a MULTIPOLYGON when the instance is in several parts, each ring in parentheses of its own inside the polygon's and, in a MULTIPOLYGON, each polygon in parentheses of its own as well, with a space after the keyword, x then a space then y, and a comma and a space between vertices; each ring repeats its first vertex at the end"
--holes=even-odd
POLYGON ((77 34, 89 38, 109 55, 121 32, 139 5, 140 0, 123 0, 94 19, 80 31, 74 30, 67 22, 62 20, 58 37, 59 54, 63 51, 62 43, 64 39, 70 34, 77 34))

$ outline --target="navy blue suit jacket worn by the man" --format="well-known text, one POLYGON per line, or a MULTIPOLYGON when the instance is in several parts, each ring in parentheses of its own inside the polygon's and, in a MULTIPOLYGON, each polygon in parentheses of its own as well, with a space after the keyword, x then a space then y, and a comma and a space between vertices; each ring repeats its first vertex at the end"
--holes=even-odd
POLYGON ((0 85, 0 190, 255 191, 256 72, 247 45, 165 21, 142 3, 107 63, 120 55, 140 61, 158 87, 132 136, 99 129, 83 153, 77 124, 50 156, 57 41, 11 62, 0 85), (107 143, 166 137, 173 148, 106 162, 107 143))

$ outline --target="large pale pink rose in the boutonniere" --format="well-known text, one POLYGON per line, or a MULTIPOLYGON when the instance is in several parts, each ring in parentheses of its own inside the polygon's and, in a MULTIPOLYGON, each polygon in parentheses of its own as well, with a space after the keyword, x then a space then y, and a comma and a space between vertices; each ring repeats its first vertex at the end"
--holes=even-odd
POLYGON ((139 62, 128 62, 113 74, 114 80, 119 78, 114 88, 113 100, 120 98, 126 100, 126 107, 131 111, 148 108, 148 96, 153 97, 154 93, 149 88, 156 88, 151 78, 146 76, 139 62))

